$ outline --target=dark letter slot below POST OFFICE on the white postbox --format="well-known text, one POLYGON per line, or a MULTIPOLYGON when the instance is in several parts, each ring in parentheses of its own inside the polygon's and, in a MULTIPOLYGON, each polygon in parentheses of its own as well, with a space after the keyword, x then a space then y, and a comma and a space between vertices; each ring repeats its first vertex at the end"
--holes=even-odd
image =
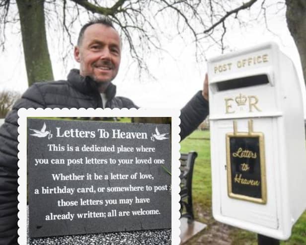
POLYGON ((236 78, 231 80, 226 80, 222 82, 216 82, 218 91, 224 91, 229 89, 235 89, 240 87, 250 87, 255 85, 261 85, 269 83, 267 75, 256 75, 244 78, 236 78))

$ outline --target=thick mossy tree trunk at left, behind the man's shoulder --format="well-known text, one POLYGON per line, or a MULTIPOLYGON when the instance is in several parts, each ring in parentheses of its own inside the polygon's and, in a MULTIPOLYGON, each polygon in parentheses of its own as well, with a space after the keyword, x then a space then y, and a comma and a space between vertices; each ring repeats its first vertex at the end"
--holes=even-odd
POLYGON ((48 51, 44 0, 16 0, 20 17, 25 66, 29 86, 53 80, 48 51))

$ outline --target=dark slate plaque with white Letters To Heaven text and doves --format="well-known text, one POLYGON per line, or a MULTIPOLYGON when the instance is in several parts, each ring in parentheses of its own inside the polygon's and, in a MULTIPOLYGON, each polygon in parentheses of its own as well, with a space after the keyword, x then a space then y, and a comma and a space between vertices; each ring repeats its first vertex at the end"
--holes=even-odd
POLYGON ((27 119, 29 236, 171 228, 170 125, 27 119))

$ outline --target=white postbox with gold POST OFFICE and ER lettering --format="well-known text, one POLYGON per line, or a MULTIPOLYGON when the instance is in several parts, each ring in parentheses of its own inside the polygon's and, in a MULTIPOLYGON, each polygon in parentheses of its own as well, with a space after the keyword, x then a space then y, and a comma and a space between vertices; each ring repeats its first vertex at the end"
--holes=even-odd
POLYGON ((303 101, 275 43, 208 62, 213 215, 285 240, 306 208, 303 101))

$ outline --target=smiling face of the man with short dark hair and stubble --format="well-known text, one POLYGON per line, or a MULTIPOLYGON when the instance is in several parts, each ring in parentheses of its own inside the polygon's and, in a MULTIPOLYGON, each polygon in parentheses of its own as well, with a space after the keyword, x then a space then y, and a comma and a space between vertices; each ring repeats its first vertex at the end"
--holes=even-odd
POLYGON ((75 48, 75 59, 80 63, 80 75, 96 82, 112 81, 121 58, 118 32, 103 24, 88 26, 80 44, 75 48))

